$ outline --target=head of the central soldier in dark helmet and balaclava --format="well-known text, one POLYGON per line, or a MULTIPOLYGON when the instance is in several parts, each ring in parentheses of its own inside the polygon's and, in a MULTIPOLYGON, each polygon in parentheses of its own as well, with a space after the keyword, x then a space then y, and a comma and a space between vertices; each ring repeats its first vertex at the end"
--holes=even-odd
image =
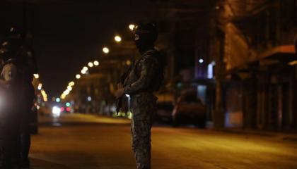
POLYGON ((158 38, 156 25, 153 23, 141 23, 135 27, 134 36, 135 45, 140 53, 143 54, 148 49, 154 48, 158 38))

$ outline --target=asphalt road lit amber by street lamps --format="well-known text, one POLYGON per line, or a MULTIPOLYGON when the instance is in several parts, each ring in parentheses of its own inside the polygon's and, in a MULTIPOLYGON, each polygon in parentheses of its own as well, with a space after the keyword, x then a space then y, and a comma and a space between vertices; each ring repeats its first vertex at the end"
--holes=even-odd
MULTIPOLYGON (((34 168, 135 168, 129 120, 93 115, 40 119, 34 168)), ((297 142, 277 137, 155 126, 153 169, 296 169, 297 142)))

